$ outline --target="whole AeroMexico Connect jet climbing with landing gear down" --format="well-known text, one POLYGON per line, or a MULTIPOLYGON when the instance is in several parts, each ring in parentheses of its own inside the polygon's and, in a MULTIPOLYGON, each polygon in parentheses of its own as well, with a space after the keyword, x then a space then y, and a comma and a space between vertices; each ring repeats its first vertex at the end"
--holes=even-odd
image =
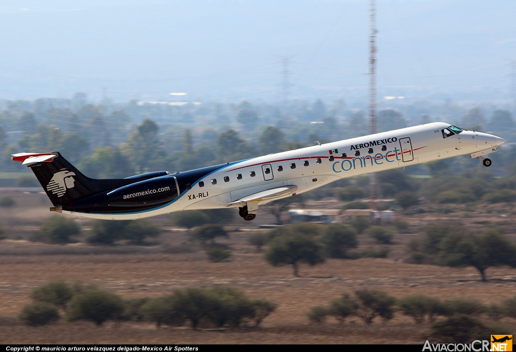
POLYGON ((444 122, 346 139, 176 172, 148 172, 125 179, 94 180, 59 152, 13 154, 30 167, 53 203, 53 212, 83 218, 129 220, 183 210, 238 207, 253 220, 259 205, 330 182, 469 154, 484 155, 503 138, 444 122))

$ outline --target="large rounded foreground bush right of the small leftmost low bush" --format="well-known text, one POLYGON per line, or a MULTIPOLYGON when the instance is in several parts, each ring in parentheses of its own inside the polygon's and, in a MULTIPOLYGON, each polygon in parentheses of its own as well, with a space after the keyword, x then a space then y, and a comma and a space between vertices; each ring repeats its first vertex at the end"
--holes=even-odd
POLYGON ((88 286, 70 300, 67 318, 69 321, 89 320, 96 325, 102 325, 106 320, 118 319, 123 310, 120 296, 88 286))

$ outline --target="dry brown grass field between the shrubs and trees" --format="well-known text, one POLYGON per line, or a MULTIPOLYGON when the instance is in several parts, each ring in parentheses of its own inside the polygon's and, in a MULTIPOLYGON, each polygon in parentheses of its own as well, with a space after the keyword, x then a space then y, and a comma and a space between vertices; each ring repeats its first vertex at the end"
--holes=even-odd
MULTIPOLYGON (((329 319, 310 323, 306 313, 311 307, 326 305, 331 299, 356 289, 379 289, 401 297, 425 294, 440 299, 466 297, 495 303, 516 293, 516 269, 489 268, 489 282, 481 282, 474 268, 448 268, 407 264, 405 243, 417 236, 425 223, 461 223, 479 229, 504 226, 514 239, 512 217, 499 217, 482 211, 456 212, 436 216, 412 215, 406 221, 413 233, 396 234, 388 258, 327 260, 310 267, 301 265, 300 275, 291 267, 272 267, 247 243, 247 236, 257 228, 234 226, 228 239, 220 241, 233 249, 231 261, 211 263, 204 251, 185 245, 185 231, 171 227, 168 217, 155 221, 166 231, 148 247, 91 247, 82 244, 53 246, 26 241, 31 232, 48 216, 47 204, 40 194, 14 195, 17 207, 3 213, 0 222, 9 239, 0 241, 0 343, 423 343, 429 326, 414 324, 412 319, 396 314, 389 322, 380 319, 366 326, 358 318, 345 323, 329 319), (190 250, 186 250, 190 249, 190 250), (237 330, 187 327, 155 328, 148 323, 112 323, 101 327, 93 323, 67 323, 60 319, 44 327, 21 325, 16 316, 30 302, 34 287, 49 280, 80 280, 94 283, 125 298, 155 297, 184 287, 229 285, 245 291, 252 298, 267 298, 278 308, 264 319, 259 328, 237 330)), ((510 211, 509 209, 504 212, 510 211)), ((270 218, 262 217, 261 221, 270 218)), ((87 228, 87 222, 82 225, 87 228)), ((235 225, 248 225, 235 220, 235 225)), ((453 226, 453 225, 450 225, 453 226)), ((372 246, 360 237, 360 249, 372 246)), ((194 246, 195 247, 195 246, 194 246)), ((514 321, 503 324, 516 331, 514 321)))

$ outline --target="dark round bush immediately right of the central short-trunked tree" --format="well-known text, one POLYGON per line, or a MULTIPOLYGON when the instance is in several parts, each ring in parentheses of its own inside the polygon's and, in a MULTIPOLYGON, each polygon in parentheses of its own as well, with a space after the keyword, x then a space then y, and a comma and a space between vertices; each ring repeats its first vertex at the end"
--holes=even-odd
POLYGON ((324 228, 322 243, 330 258, 347 258, 347 250, 357 247, 357 234, 349 226, 334 223, 324 228))

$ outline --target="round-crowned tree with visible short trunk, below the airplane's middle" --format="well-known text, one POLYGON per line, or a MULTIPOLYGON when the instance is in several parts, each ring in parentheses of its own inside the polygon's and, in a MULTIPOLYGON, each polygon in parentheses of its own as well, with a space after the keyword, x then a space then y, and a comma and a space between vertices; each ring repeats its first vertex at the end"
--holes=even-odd
POLYGON ((265 259, 273 266, 292 265, 294 276, 299 277, 299 263, 316 265, 324 262, 322 245, 314 237, 297 233, 277 236, 269 243, 265 259))

